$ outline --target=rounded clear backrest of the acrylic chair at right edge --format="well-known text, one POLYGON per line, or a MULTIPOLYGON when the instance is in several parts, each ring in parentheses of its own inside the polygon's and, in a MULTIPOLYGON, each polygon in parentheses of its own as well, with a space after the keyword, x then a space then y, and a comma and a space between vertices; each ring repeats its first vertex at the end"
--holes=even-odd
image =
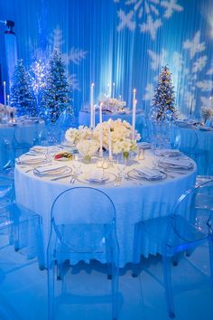
MULTIPOLYGON (((208 234, 208 223, 213 220, 213 180, 196 185, 182 194, 175 203, 168 228, 182 240, 196 240, 196 230, 208 234), (191 226, 192 228, 189 228, 191 226)), ((170 242, 167 232, 165 242, 170 242)))

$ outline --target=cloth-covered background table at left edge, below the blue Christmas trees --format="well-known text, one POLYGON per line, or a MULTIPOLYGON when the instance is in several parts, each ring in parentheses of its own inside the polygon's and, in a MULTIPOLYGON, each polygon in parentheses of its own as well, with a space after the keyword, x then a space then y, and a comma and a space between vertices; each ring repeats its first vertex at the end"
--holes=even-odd
POLYGON ((41 118, 17 118, 15 123, 0 123, 0 168, 8 161, 8 144, 15 139, 17 143, 33 145, 33 140, 44 127, 41 118))

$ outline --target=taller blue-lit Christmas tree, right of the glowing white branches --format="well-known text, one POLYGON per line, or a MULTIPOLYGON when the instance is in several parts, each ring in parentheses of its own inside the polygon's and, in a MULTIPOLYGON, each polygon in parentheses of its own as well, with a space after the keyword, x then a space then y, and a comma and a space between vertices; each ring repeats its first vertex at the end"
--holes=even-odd
POLYGON ((69 83, 58 49, 55 49, 47 65, 46 85, 42 92, 41 116, 47 122, 55 122, 62 111, 71 113, 69 83))

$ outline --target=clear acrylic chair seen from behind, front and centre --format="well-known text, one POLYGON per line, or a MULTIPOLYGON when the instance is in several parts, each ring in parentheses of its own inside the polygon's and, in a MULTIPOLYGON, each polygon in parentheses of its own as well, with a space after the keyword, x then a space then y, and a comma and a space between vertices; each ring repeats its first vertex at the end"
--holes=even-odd
POLYGON ((49 319, 54 318, 54 282, 65 280, 63 266, 96 259, 111 267, 112 318, 117 319, 118 259, 116 209, 100 190, 75 187, 60 193, 51 207, 51 237, 47 249, 49 319))

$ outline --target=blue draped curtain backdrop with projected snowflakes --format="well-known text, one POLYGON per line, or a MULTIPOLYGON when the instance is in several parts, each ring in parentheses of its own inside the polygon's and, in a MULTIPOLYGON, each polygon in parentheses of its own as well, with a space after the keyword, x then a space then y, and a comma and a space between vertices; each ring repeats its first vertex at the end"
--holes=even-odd
POLYGON ((130 107, 135 88, 138 108, 148 111, 165 64, 181 113, 199 117, 201 106, 213 103, 212 0, 0 0, 0 14, 0 20, 14 21, 18 58, 26 68, 35 56, 60 48, 77 114, 88 104, 91 82, 96 100, 115 83, 116 97, 130 107))

